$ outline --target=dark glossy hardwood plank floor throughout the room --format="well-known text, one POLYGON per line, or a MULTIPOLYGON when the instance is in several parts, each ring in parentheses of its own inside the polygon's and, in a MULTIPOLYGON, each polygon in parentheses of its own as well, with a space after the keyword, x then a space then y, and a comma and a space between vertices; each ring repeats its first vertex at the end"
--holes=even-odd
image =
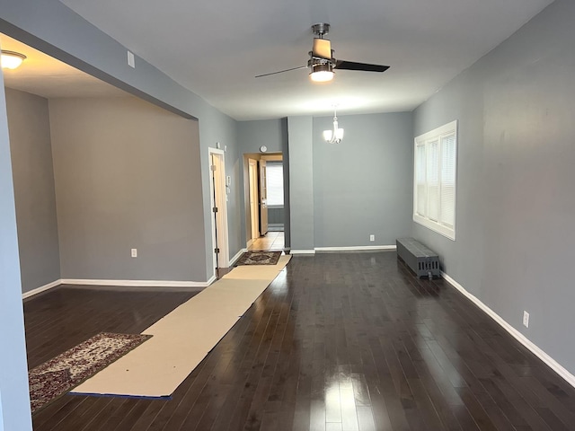
MULTIPOLYGON (((24 305, 30 366, 140 332, 193 293, 61 287, 24 305)), ((66 395, 38 431, 569 430, 575 389, 394 252, 294 257, 172 400, 66 395)))

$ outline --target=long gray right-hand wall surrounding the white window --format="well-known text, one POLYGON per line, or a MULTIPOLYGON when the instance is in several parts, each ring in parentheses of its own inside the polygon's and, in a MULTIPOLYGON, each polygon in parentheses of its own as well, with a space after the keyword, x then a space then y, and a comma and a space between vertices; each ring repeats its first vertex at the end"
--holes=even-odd
POLYGON ((415 111, 416 136, 459 119, 456 242, 413 224, 449 276, 571 374, 574 20, 556 0, 415 111))

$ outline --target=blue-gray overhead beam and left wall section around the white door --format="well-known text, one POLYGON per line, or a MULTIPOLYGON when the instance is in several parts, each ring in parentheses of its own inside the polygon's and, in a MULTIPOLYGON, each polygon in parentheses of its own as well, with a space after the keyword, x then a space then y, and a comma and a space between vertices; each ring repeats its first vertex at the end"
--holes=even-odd
MULTIPOLYGON (((239 185, 240 165, 236 163, 237 159, 233 159, 237 155, 236 121, 142 58, 136 57, 136 68, 129 67, 126 57, 129 47, 123 47, 58 0, 0 0, 0 11, 0 31, 5 34, 146 101, 186 118, 199 119, 201 203, 205 233, 203 251, 208 256, 208 259, 204 259, 205 276, 202 278, 211 277, 214 268, 211 259, 213 244, 209 213, 208 147, 215 147, 217 142, 227 145, 230 156, 226 158, 226 167, 229 166, 228 172, 231 172, 228 174, 233 176, 233 184, 239 185)), ((239 193, 240 189, 236 187, 232 191, 239 193)), ((238 195, 228 198, 228 212, 238 214, 241 198, 238 195)), ((234 242, 241 237, 236 231, 239 227, 233 221, 229 224, 230 251, 234 250, 234 242)))

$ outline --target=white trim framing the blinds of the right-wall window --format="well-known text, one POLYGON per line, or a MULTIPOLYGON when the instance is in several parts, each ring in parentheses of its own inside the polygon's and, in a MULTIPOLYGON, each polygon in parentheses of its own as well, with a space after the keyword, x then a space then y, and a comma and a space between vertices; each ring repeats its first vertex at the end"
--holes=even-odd
MULTIPOLYGON (((446 236, 452 241, 456 241, 456 220, 457 220, 457 146, 458 146, 458 135, 457 135, 457 120, 452 121, 444 126, 436 128, 429 131, 423 135, 417 136, 414 139, 413 145, 413 221, 421 224, 428 229, 440 233, 446 236), (420 216, 417 214, 417 203, 418 203, 418 192, 417 192, 417 147, 418 145, 425 145, 428 142, 438 140, 439 146, 441 143, 441 138, 444 136, 455 134, 456 136, 456 183, 455 183, 455 196, 454 196, 454 224, 453 228, 429 219, 426 216, 420 216)), ((441 151, 441 150, 439 150, 441 151)), ((439 155, 439 163, 441 163, 441 154, 439 155)), ((440 187, 440 186, 439 186, 440 187)))

